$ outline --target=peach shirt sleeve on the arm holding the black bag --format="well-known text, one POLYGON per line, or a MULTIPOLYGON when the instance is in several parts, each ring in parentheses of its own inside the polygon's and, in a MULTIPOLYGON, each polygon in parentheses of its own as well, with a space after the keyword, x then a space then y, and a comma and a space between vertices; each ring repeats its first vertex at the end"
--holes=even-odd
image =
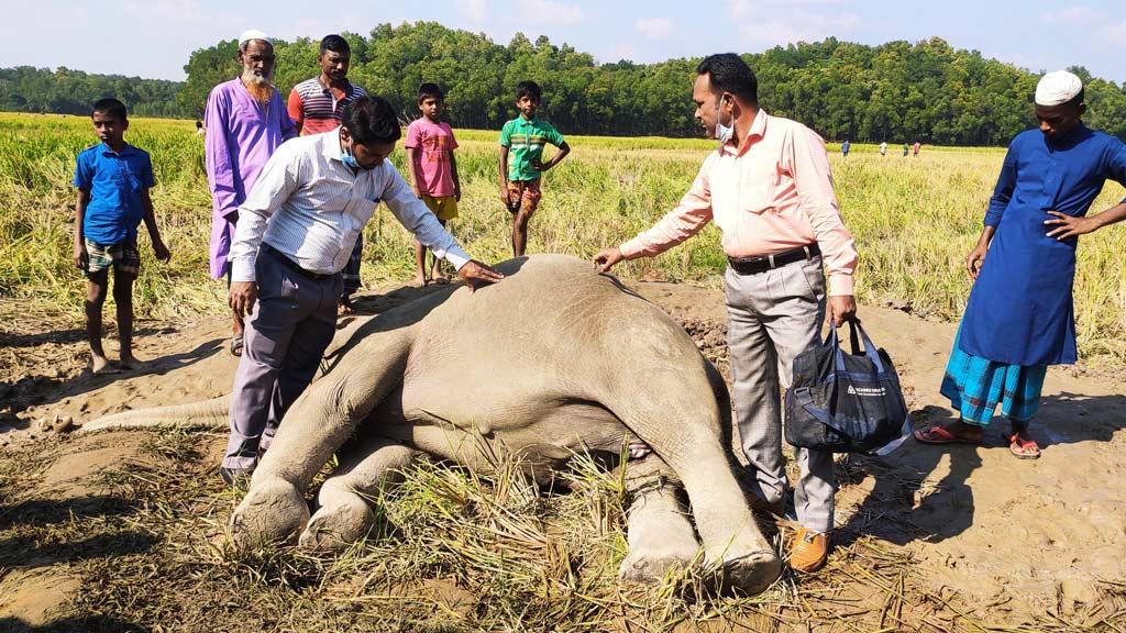
POLYGON ((803 128, 795 131, 790 137, 787 153, 797 186, 798 204, 813 226, 814 239, 825 262, 829 296, 851 295, 859 256, 852 235, 841 220, 825 143, 812 130, 803 128))

